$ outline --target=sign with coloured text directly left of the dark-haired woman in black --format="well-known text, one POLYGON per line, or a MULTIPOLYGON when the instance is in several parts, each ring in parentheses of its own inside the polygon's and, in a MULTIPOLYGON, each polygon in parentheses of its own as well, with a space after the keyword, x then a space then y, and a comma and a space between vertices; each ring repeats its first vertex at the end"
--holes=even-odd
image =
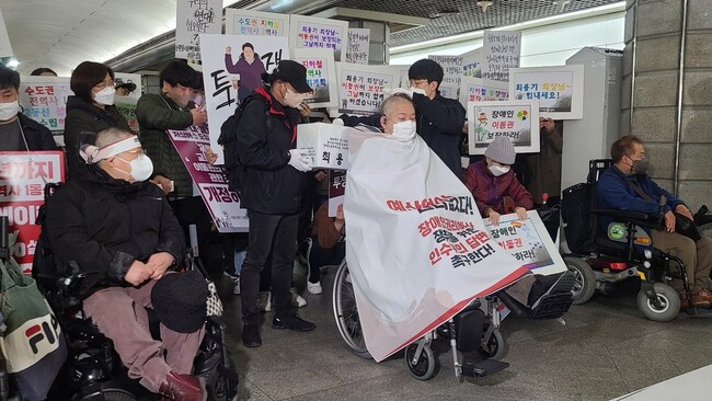
POLYGON ((74 94, 69 88, 69 77, 22 77, 20 104, 23 113, 49 128, 57 144, 64 146, 67 98, 74 94))

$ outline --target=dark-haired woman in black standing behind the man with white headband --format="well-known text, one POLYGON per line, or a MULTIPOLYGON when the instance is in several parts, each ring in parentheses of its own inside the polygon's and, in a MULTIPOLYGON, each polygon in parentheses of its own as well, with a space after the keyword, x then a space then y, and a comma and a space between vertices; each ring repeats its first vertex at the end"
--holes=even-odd
POLYGON ((93 144, 100 130, 117 127, 131 130, 126 118, 114 105, 114 70, 93 61, 84 61, 71 73, 69 87, 73 96, 67 99, 65 146, 67 147, 67 175, 72 179, 83 162, 79 159, 82 144, 93 144))

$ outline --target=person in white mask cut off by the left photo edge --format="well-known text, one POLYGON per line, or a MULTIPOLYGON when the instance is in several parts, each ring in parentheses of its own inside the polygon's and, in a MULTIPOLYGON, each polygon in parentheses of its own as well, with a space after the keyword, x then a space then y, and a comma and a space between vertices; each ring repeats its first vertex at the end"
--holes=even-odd
POLYGON ((51 131, 20 113, 20 73, 0 66, 0 150, 56 150, 51 131))

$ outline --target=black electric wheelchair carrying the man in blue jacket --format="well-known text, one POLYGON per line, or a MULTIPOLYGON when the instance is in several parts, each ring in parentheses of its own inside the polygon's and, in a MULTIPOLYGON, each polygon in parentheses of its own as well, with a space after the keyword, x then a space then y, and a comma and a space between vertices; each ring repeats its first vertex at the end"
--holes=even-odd
MULTIPOLYGON (((597 208, 598 177, 611 165, 610 159, 592 160, 587 181, 563 191, 561 211, 572 252, 564 255, 564 261, 575 275, 574 303, 588 301, 596 290, 604 295, 619 293, 623 280, 638 278, 636 305, 641 313, 653 321, 670 321, 679 313, 681 301, 669 282, 680 279, 690 306, 688 314, 707 314, 708 310, 692 307, 682 261, 653 248, 643 229, 663 227, 662 217, 597 208), (616 222, 605 230, 599 225, 600 216, 610 216, 616 222)), ((661 210, 665 202, 661 199, 661 210)))

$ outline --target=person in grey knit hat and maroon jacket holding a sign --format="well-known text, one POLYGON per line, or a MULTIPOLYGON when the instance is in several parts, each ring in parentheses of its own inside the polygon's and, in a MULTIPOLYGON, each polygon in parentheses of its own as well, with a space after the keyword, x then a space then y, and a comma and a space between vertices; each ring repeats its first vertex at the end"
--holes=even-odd
POLYGON ((504 197, 514 200, 514 211, 519 219, 527 217, 533 207, 533 199, 527 188, 519 183, 512 170, 515 161, 514 145, 507 137, 496 137, 484 150, 484 159, 468 167, 462 176, 464 186, 474 197, 482 217, 498 226, 499 215, 506 214, 504 197))

